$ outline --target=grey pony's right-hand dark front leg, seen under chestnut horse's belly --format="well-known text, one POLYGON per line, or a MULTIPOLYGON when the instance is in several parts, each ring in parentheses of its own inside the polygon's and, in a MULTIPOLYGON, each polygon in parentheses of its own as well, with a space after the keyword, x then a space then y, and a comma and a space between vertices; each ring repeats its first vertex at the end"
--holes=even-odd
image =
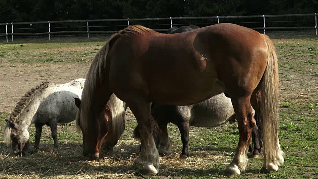
POLYGON ((187 158, 189 157, 189 131, 190 131, 190 125, 189 122, 181 122, 178 125, 180 134, 181 134, 181 140, 182 140, 182 153, 180 154, 180 158, 187 158))

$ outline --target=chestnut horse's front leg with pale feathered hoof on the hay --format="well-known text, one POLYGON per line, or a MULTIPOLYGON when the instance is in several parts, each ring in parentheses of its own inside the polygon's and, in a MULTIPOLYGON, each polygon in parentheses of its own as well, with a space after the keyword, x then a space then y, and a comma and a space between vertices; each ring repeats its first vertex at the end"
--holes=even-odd
POLYGON ((154 142, 150 123, 151 104, 148 104, 143 98, 134 98, 127 104, 137 119, 142 138, 141 152, 136 160, 143 161, 145 158, 147 160, 144 169, 141 171, 143 175, 156 175, 159 171, 159 153, 154 142))

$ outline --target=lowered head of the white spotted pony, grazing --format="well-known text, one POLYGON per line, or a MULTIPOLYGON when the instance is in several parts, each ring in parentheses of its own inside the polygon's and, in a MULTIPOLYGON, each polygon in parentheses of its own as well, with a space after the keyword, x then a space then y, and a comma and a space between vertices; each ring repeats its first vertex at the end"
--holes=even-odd
POLYGON ((12 120, 5 120, 4 142, 11 143, 15 155, 24 155, 29 147, 30 134, 27 127, 21 127, 12 120))

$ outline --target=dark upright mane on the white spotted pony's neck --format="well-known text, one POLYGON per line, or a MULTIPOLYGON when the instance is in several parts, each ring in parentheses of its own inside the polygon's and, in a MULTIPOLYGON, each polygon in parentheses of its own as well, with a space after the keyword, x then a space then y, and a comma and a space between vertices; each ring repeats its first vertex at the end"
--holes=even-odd
POLYGON ((32 89, 30 89, 29 91, 27 91, 22 98, 20 99, 20 101, 16 104, 16 106, 14 107, 14 109, 11 112, 10 115, 10 121, 15 121, 16 119, 19 118, 20 114, 23 112, 23 110, 25 109, 25 107, 32 102, 35 99, 35 96, 38 93, 43 92, 44 89, 46 89, 49 84, 52 84, 52 82, 41 82, 39 85, 37 85, 36 87, 33 87, 32 89))

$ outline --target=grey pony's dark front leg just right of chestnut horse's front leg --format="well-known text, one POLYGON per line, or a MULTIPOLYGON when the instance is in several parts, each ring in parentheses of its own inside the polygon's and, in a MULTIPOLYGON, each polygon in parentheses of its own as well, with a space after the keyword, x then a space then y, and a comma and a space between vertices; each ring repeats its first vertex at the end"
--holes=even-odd
POLYGON ((158 152, 160 155, 168 155, 171 153, 171 144, 168 134, 168 124, 160 125, 161 140, 158 152))

